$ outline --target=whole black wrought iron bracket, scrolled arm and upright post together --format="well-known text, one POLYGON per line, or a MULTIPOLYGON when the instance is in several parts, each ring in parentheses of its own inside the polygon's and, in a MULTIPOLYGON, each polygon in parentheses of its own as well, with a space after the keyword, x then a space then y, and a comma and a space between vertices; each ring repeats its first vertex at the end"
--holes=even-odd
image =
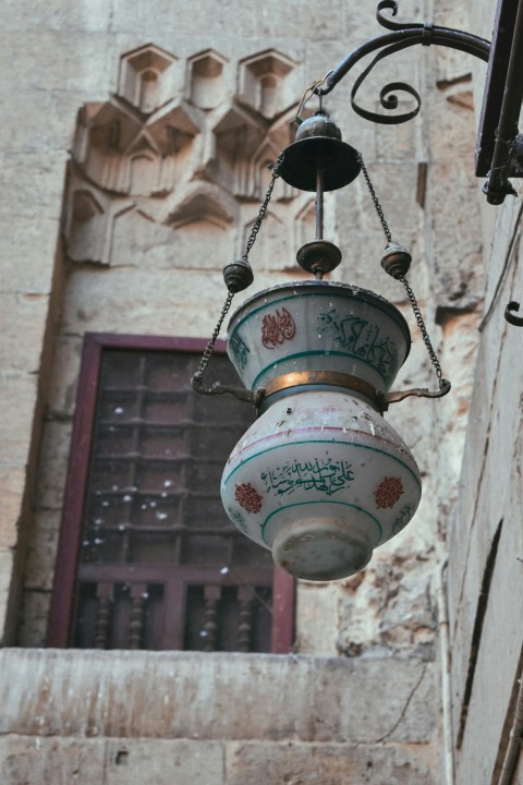
POLYGON ((523 99, 521 60, 523 57, 523 2, 498 0, 496 28, 492 41, 465 31, 442 27, 431 22, 398 23, 391 17, 398 13, 396 0, 380 0, 376 10, 378 23, 390 31, 372 38, 350 52, 325 80, 314 88, 320 98, 363 58, 377 52, 367 68, 355 80, 351 90, 351 105, 360 117, 382 124, 398 124, 412 120, 419 112, 422 99, 406 82, 390 82, 379 93, 386 112, 398 108, 397 93, 411 96, 415 106, 410 111, 388 114, 364 109, 356 95, 376 64, 386 57, 412 46, 445 46, 458 49, 488 62, 484 108, 476 144, 476 174, 488 177, 484 193, 489 204, 499 205, 508 194, 514 195, 509 178, 523 177, 523 136, 519 134, 518 119, 523 99), (390 12, 385 14, 384 12, 390 12))

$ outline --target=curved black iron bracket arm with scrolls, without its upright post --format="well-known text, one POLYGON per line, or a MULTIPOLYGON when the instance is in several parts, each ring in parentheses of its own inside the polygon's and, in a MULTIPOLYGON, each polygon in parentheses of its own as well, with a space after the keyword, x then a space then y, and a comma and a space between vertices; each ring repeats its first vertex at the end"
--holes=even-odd
POLYGON ((402 92, 409 94, 416 101, 416 106, 408 112, 402 114, 379 114, 368 109, 364 109, 356 104, 356 94, 366 80, 369 73, 374 70, 375 65, 389 55, 394 55, 402 49, 406 49, 411 46, 446 46, 451 49, 459 49, 469 55, 488 61, 490 53, 490 41, 486 38, 479 38, 478 36, 465 33, 463 31, 452 29, 451 27, 441 27, 435 25, 431 22, 425 23, 410 23, 401 24, 393 22, 388 16, 384 15, 384 11, 391 11, 392 16, 398 13, 398 3, 396 0, 380 0, 376 9, 376 19, 378 23, 392 31, 386 35, 378 36, 365 41, 361 46, 356 47, 350 52, 332 71, 330 71, 321 85, 318 85, 314 92, 318 96, 324 96, 330 93, 338 82, 345 76, 349 71, 363 58, 367 57, 376 50, 381 50, 376 55, 373 61, 367 65, 363 73, 356 78, 351 90, 351 106, 356 114, 363 117, 365 120, 372 122, 381 123, 386 125, 396 125, 399 123, 408 122, 416 117, 422 106, 422 99, 417 90, 406 82, 390 82, 386 84, 379 93, 380 105, 387 111, 393 111, 398 108, 399 99, 396 92, 402 92))

